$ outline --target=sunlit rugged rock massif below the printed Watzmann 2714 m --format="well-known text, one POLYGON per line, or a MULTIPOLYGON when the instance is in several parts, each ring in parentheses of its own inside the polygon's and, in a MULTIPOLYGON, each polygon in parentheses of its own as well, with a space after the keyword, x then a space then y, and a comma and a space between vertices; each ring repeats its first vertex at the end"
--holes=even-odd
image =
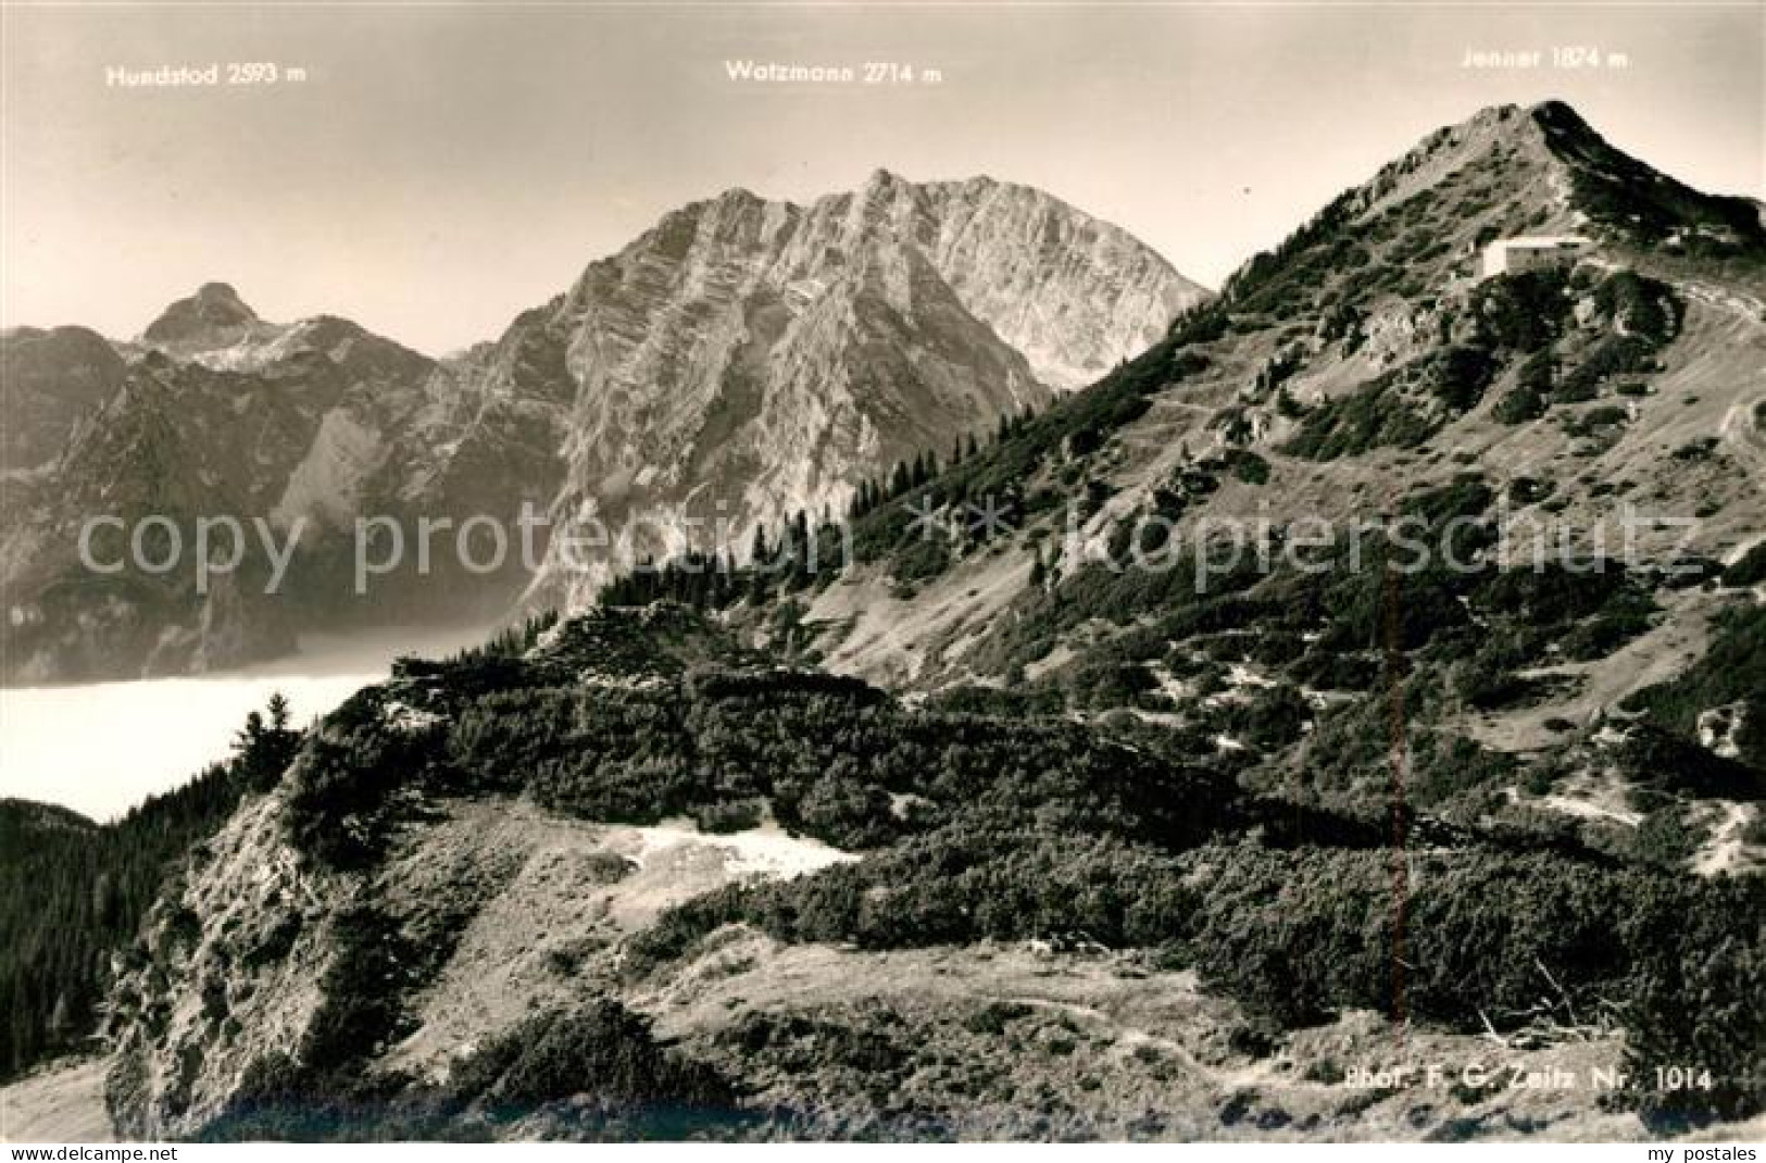
MULTIPOLYGON (((740 553, 756 525, 837 513, 895 461, 1083 385, 1203 293, 991 179, 878 171, 809 207, 729 191, 517 323, 576 389, 553 514, 592 514, 627 559, 696 541, 692 521, 740 553)), ((555 555, 535 601, 583 604, 620 564, 555 555)))

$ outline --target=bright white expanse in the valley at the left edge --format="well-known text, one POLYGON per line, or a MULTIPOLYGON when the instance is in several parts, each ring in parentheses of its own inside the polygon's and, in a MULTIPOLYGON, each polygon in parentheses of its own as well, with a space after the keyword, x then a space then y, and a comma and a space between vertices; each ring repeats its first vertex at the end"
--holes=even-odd
POLYGON ((272 691, 306 725, 385 679, 401 654, 433 658, 489 636, 491 627, 314 635, 298 656, 233 673, 0 689, 0 797, 115 820, 224 758, 272 691))

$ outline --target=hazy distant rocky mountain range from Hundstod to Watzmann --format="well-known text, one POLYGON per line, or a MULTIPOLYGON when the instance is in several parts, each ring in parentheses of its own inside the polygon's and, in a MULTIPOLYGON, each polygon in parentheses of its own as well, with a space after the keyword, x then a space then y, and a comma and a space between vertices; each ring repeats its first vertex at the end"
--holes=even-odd
POLYGON ((878 171, 809 207, 729 191, 675 210, 457 359, 332 316, 270 323, 224 283, 129 343, 16 329, 4 679, 215 670, 300 629, 482 619, 523 592, 583 604, 609 566, 556 555, 533 576, 443 553, 353 596, 348 534, 371 516, 512 528, 523 504, 620 528, 701 505, 745 546, 1104 375, 1204 295, 1040 191, 878 171), (95 576, 76 553, 97 514, 164 514, 185 544, 221 514, 304 532, 272 601, 256 555, 207 594, 189 569, 95 576))

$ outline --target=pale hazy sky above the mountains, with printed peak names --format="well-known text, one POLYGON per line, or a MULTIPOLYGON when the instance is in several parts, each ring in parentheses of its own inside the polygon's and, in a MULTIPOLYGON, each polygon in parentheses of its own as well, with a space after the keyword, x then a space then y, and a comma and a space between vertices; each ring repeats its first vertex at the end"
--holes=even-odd
POLYGON ((7 5, 0 21, 0 325, 113 338, 219 279, 272 320, 344 315, 443 353, 676 205, 733 186, 807 201, 879 166, 1047 189, 1217 286, 1430 129, 1547 97, 1692 186, 1766 194, 1752 0, 7 5), (1556 67, 1554 46, 1602 64, 1556 67), (1469 49, 1543 60, 1466 67, 1469 49), (738 60, 915 72, 733 81, 738 60), (106 83, 260 62, 277 83, 106 83))

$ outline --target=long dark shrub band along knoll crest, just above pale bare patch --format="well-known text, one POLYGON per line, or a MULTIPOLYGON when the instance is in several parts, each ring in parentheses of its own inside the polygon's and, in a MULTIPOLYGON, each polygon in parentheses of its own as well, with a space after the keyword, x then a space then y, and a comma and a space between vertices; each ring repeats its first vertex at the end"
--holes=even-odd
MULTIPOLYGON (((1144 668, 1120 673, 1139 675, 1132 689, 1150 682, 1144 668)), ((366 866, 404 811, 401 788, 526 792, 625 824, 749 818, 765 802, 788 829, 842 848, 881 847, 968 813, 1196 840, 1236 802, 1229 779, 1123 749, 1077 723, 908 711, 834 675, 516 684, 450 718, 404 714, 401 700, 413 696, 378 688, 309 741, 288 811, 302 850, 366 866), (920 808, 897 811, 899 795, 920 808)))

